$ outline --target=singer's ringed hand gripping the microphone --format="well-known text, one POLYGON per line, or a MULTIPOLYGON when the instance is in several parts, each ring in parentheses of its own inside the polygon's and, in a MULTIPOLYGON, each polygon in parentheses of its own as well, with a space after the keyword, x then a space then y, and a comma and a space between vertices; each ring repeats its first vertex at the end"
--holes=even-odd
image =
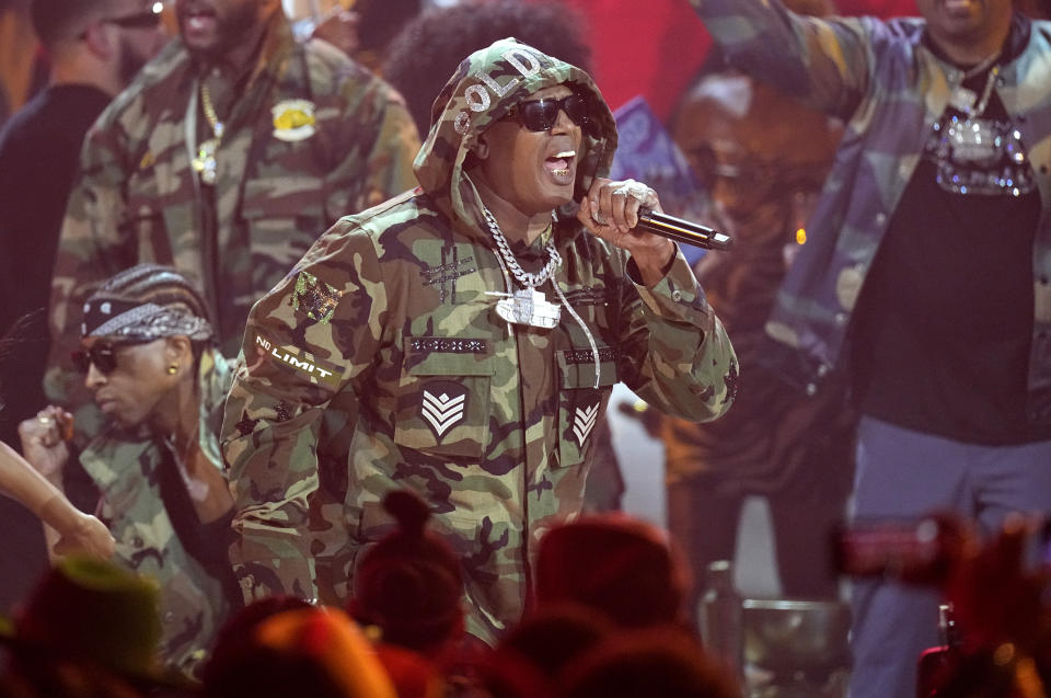
POLYGON ((661 211, 657 192, 635 180, 613 182, 596 178, 580 202, 577 219, 591 234, 627 250, 643 283, 652 286, 663 276, 675 243, 667 238, 636 229, 638 209, 661 211))

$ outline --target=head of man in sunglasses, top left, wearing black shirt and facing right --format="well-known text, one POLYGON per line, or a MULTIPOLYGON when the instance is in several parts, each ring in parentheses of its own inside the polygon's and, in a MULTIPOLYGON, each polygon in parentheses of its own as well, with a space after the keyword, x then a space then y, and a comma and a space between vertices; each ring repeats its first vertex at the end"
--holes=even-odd
POLYGON ((33 0, 33 28, 57 82, 88 82, 116 94, 168 36, 154 0, 33 0))

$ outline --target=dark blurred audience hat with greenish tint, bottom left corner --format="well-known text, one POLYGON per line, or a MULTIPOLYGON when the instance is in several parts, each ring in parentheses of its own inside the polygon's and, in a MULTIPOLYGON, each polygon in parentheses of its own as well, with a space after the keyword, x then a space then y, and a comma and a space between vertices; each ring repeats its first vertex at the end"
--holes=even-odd
POLYGON ((159 590, 112 562, 70 557, 37 583, 3 641, 28 695, 137 696, 184 682, 158 663, 159 590))

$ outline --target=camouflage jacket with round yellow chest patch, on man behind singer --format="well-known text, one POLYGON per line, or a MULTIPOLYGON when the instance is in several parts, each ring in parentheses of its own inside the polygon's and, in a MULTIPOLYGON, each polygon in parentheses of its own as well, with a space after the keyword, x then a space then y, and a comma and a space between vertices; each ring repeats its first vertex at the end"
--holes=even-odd
POLYGON ((53 400, 79 402, 68 353, 101 281, 139 262, 174 266, 205 291, 220 346, 235 355, 252 304, 321 231, 415 186, 419 138, 401 95, 333 46, 294 42, 275 7, 257 62, 240 67, 245 87, 221 114, 213 186, 190 164, 211 127, 200 69, 178 41, 89 130, 53 282, 53 400))

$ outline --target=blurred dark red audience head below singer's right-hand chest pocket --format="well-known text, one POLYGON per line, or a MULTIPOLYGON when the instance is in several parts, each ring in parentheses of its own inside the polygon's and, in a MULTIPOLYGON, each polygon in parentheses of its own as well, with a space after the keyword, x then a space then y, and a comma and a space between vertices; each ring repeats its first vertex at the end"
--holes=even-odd
POLYGON ((685 622, 690 586, 667 533, 619 514, 581 517, 540 540, 536 604, 580 604, 623 628, 685 622))

